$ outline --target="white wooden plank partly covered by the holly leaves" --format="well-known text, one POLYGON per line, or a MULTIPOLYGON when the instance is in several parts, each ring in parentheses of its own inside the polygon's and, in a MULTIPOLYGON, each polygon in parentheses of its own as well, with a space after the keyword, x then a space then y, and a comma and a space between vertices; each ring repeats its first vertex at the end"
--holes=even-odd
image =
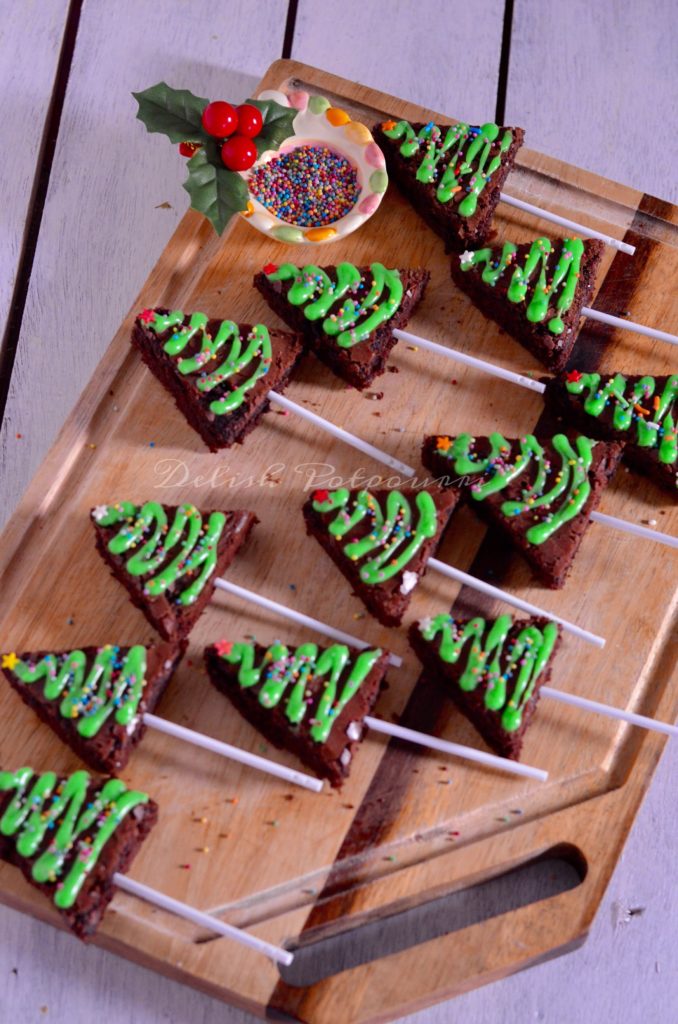
MULTIPOLYGON (((49 5, 31 6, 37 23, 49 5)), ((183 158, 135 120, 131 91, 165 79, 242 101, 280 56, 286 15, 286 0, 86 0, 0 433, 0 525, 188 205, 183 158)))

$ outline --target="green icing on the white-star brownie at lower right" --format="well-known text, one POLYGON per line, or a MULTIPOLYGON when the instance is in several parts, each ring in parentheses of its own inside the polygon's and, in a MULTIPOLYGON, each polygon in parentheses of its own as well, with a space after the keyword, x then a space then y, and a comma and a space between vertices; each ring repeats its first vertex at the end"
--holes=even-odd
POLYGON ((547 623, 543 630, 531 625, 514 635, 507 647, 512 625, 511 615, 501 615, 492 623, 484 618, 457 623, 452 615, 442 614, 419 626, 425 640, 433 641, 440 635, 443 662, 456 665, 465 658, 460 689, 471 692, 481 682, 488 683, 484 706, 501 712, 502 728, 507 732, 520 728, 523 710, 558 638, 554 623, 547 623))

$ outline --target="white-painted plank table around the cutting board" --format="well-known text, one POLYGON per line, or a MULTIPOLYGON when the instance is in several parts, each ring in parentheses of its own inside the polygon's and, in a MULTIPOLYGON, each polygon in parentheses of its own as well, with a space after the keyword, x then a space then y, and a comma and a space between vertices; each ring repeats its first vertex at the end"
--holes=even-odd
MULTIPOLYGON (((271 60, 291 55, 470 121, 493 120, 504 104, 531 147, 678 202, 673 0, 289 6, 0 0, 0 524, 186 206, 180 161, 135 122, 132 89, 164 78, 244 98, 271 60)), ((583 949, 409 1020, 675 1020, 677 767, 674 744, 583 949)), ((96 1018, 249 1019, 0 908, 0 1022, 96 1018)))

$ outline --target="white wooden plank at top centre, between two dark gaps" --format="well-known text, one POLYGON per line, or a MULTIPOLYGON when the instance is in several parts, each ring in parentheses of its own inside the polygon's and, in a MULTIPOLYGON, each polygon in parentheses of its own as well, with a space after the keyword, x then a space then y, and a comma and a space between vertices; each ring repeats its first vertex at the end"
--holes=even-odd
POLYGON ((453 118, 495 117, 503 0, 299 0, 292 56, 453 118))

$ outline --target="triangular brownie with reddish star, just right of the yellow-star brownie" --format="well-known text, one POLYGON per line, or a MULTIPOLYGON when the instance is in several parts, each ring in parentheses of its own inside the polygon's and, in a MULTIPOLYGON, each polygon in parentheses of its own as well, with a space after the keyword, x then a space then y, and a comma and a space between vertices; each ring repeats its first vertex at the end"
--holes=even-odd
POLYGON ((243 717, 333 786, 348 776, 388 656, 380 648, 295 648, 278 640, 269 647, 222 640, 205 649, 210 679, 243 717))

